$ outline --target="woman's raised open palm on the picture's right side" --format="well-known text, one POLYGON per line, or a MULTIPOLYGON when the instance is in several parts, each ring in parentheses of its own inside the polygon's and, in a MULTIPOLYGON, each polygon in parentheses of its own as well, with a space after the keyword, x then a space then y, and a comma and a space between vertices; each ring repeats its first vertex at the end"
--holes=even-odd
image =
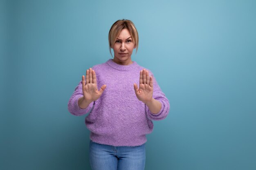
POLYGON ((133 84, 137 98, 146 104, 153 97, 153 77, 149 76, 148 71, 143 69, 139 73, 139 89, 136 83, 133 84))

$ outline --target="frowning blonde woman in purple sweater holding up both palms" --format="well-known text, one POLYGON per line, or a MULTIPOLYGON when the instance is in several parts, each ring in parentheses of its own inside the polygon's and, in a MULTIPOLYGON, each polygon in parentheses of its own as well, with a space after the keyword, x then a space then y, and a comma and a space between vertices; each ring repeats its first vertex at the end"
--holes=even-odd
POLYGON ((139 42, 132 21, 117 20, 108 40, 113 59, 86 71, 68 110, 76 116, 91 111, 85 124, 92 170, 144 170, 146 134, 153 130, 152 120, 166 118, 170 104, 153 73, 131 60, 139 42))

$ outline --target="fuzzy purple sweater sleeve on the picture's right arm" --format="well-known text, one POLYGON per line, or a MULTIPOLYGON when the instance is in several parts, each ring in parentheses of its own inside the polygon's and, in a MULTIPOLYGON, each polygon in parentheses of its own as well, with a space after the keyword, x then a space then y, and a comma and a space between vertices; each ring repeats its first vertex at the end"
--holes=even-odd
MULTIPOLYGON (((148 70, 148 72, 149 72, 149 75, 153 76, 153 73, 151 71, 148 70)), ((162 92, 159 85, 157 84, 157 81, 154 76, 153 76, 153 98, 161 103, 161 109, 158 113, 154 114, 150 112, 148 106, 145 104, 147 117, 151 120, 165 119, 170 110, 170 103, 167 97, 165 96, 165 94, 162 92)))

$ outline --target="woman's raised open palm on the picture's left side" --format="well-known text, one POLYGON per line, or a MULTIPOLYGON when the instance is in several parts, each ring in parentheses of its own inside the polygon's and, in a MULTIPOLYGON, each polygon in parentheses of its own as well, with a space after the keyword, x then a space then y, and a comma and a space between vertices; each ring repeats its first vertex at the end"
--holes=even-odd
POLYGON ((92 68, 86 70, 86 84, 85 84, 85 77, 82 76, 82 84, 83 84, 83 98, 85 101, 93 102, 101 96, 103 91, 106 88, 106 84, 101 86, 101 89, 98 91, 97 88, 97 80, 96 80, 96 73, 92 68))

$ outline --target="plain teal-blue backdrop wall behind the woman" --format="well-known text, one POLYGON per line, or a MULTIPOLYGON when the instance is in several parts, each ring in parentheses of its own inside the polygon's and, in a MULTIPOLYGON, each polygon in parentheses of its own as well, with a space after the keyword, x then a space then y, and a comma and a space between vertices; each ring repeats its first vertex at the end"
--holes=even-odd
POLYGON ((256 169, 255 0, 1 0, 0 169, 90 170, 86 115, 67 102, 134 22, 132 60, 170 101, 147 135, 146 170, 256 169))

